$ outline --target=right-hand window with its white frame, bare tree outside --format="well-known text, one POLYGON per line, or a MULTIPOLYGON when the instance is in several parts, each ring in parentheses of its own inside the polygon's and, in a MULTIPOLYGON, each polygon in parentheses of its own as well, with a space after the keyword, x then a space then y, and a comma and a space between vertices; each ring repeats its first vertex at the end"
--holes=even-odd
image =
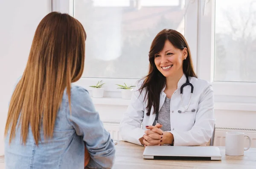
POLYGON ((255 103, 254 2, 199 1, 198 76, 212 82, 215 101, 255 103))

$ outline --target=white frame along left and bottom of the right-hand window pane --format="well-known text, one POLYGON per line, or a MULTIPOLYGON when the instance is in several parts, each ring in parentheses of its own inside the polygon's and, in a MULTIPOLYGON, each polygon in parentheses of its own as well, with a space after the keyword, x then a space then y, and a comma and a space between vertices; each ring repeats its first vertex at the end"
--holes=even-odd
POLYGON ((256 96, 256 82, 214 81, 215 0, 202 0, 198 5, 198 76, 212 83, 216 96, 240 96, 250 102, 256 96))

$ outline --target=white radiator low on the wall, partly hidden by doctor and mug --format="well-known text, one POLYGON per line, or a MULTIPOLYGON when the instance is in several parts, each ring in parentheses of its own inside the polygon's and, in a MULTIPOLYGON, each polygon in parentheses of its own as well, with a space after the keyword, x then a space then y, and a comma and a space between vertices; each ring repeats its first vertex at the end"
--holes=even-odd
MULTIPOLYGON (((113 140, 122 140, 119 135, 119 123, 118 122, 103 122, 104 127, 108 132, 110 132, 111 138, 113 140)), ((215 138, 214 138, 214 146, 225 146, 225 138, 226 132, 235 131, 235 132, 244 132, 247 134, 251 140, 251 147, 256 148, 256 129, 236 129, 236 128, 220 128, 216 127, 215 129, 215 138)), ((248 138, 244 138, 244 147, 249 145, 248 138)))

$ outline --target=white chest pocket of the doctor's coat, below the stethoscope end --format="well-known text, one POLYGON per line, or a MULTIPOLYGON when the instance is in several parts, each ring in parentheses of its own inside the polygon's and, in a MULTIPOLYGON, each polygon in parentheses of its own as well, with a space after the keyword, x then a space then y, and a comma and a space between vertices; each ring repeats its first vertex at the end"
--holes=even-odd
MULTIPOLYGON (((187 105, 184 106, 186 108, 187 105)), ((198 110, 198 104, 190 104, 187 111, 184 111, 183 107, 180 106, 178 112, 179 120, 182 121, 180 124, 180 128, 183 129, 183 131, 190 130, 193 125, 195 124, 195 115, 198 110)))

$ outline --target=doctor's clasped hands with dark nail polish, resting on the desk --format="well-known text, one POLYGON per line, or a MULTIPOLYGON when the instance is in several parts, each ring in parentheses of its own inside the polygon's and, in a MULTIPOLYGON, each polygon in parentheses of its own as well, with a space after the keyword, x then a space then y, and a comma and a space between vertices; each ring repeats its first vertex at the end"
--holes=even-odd
POLYGON ((170 132, 164 132, 160 128, 163 127, 161 124, 155 126, 146 126, 145 134, 140 142, 144 146, 161 146, 163 144, 172 144, 173 135, 170 132))

